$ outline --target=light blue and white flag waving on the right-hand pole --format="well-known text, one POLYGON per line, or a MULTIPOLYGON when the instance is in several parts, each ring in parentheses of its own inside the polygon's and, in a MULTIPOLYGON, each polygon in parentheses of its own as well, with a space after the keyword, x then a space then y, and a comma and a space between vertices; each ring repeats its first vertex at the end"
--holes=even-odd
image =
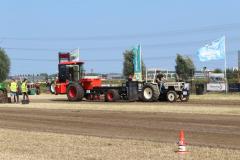
POLYGON ((210 60, 225 59, 225 36, 200 48, 197 52, 199 60, 202 62, 210 60))

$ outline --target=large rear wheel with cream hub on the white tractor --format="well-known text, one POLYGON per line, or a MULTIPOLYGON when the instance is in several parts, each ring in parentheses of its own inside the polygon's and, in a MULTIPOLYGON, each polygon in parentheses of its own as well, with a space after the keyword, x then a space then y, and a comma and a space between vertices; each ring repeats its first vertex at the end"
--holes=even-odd
POLYGON ((141 99, 144 102, 156 102, 159 95, 158 85, 146 84, 143 86, 141 99))

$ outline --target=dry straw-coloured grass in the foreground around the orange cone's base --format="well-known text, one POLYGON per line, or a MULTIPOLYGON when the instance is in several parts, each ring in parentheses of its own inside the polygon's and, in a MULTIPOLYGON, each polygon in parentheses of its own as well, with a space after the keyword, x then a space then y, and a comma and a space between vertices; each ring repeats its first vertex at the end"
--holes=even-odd
MULTIPOLYGON (((175 144, 0 129, 5 160, 172 160, 175 144)), ((184 159, 239 159, 239 150, 189 147, 184 159)))

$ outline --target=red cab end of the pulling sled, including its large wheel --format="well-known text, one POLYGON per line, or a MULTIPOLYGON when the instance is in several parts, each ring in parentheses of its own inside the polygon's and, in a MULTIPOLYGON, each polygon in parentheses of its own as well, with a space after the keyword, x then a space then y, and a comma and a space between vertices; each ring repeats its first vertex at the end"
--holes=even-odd
POLYGON ((101 86, 100 78, 84 76, 83 62, 76 60, 70 53, 59 53, 58 56, 58 77, 50 85, 51 93, 67 94, 69 99, 82 99, 94 87, 101 86))

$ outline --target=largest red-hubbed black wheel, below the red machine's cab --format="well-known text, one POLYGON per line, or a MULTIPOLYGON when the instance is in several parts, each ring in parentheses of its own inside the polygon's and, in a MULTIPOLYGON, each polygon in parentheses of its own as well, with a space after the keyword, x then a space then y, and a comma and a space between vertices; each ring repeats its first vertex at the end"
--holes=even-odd
POLYGON ((69 101, 81 101, 84 96, 83 87, 78 83, 70 83, 67 87, 69 101))

